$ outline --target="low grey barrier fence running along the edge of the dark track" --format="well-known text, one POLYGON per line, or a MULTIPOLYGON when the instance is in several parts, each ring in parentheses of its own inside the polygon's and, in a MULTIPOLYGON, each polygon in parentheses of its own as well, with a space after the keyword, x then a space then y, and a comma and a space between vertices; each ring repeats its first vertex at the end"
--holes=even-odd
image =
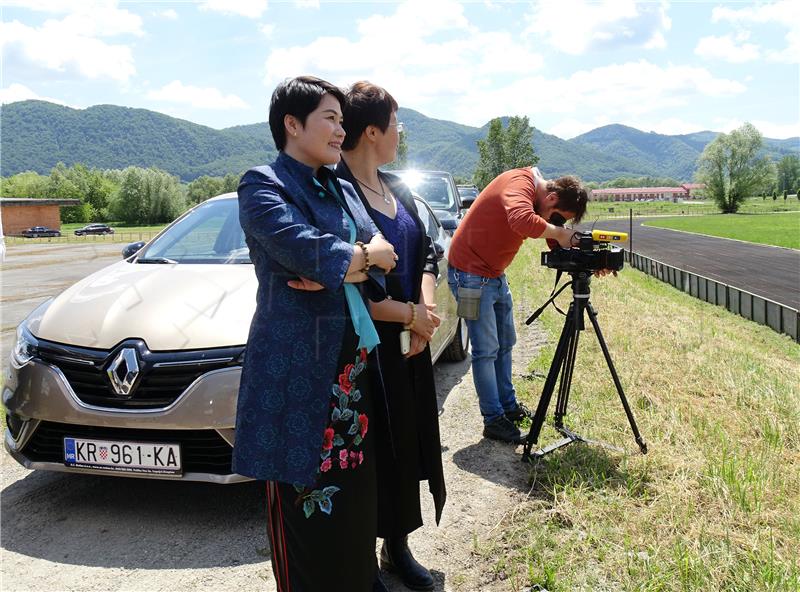
POLYGON ((702 275, 672 267, 638 253, 631 254, 625 251, 625 260, 631 267, 671 284, 678 290, 710 304, 723 306, 732 313, 760 325, 767 325, 800 343, 800 334, 798 334, 800 312, 794 308, 702 275))

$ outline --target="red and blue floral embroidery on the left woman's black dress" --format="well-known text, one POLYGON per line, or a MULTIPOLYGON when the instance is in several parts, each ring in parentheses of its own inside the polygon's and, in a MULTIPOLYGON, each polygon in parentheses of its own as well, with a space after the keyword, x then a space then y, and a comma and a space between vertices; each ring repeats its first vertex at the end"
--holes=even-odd
MULTIPOLYGON (((322 435, 322 452, 317 474, 332 470, 352 470, 364 462, 364 452, 359 450, 369 430, 369 418, 352 403, 361 400, 361 391, 356 386, 356 377, 367 368, 367 352, 360 350, 352 364, 347 364, 331 388, 330 422, 322 435)), ((317 508, 325 514, 333 511, 333 495, 340 491, 335 485, 322 489, 308 489, 295 485, 299 494, 297 504, 303 505, 303 513, 309 518, 317 508)))

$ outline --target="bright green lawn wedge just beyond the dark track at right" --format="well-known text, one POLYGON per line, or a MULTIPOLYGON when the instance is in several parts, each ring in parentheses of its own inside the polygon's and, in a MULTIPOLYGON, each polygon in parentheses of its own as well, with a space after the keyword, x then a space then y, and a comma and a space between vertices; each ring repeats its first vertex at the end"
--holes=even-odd
POLYGON ((774 215, 717 214, 659 218, 647 226, 672 228, 723 238, 735 238, 762 245, 800 249, 800 212, 774 215))

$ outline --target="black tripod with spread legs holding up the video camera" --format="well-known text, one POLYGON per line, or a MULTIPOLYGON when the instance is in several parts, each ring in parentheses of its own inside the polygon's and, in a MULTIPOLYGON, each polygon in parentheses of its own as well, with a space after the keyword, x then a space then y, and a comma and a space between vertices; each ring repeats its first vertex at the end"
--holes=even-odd
MULTIPOLYGON (((588 313, 589 320, 594 327, 595 335, 597 335, 597 339, 600 342, 600 347, 606 358, 608 369, 611 371, 611 377, 614 379, 614 385, 617 387, 620 401, 622 401, 622 407, 625 409, 625 415, 628 416, 628 423, 630 423, 636 443, 639 445, 642 454, 647 454, 647 444, 642 439, 642 436, 639 434, 639 429, 636 427, 636 420, 633 418, 633 413, 628 405, 628 400, 625 398, 625 393, 622 390, 622 384, 619 381, 619 376, 617 376, 614 363, 611 361, 611 354, 608 353, 608 346, 606 346, 605 339, 603 339, 603 334, 600 331, 600 325, 597 322, 597 313, 592 307, 592 303, 589 302, 589 284, 592 280, 592 274, 590 271, 570 271, 569 275, 572 277, 572 281, 561 286, 539 310, 534 312, 528 320, 525 321, 526 325, 530 325, 542 313, 545 307, 553 302, 567 286, 572 286, 572 302, 569 305, 569 310, 564 319, 564 328, 561 331, 561 337, 558 340, 558 346, 556 346, 556 353, 553 357, 553 362, 550 364, 550 370, 547 373, 547 379, 542 389, 542 396, 539 398, 539 404, 536 407, 536 413, 533 415, 531 421, 530 431, 524 440, 522 460, 529 461, 531 457, 540 459, 544 455, 572 444, 573 442, 602 444, 601 442, 587 440, 564 425, 564 416, 567 414, 567 403, 569 402, 569 391, 572 384, 572 372, 575 368, 575 357, 578 351, 578 337, 580 336, 580 332, 585 328, 584 311, 588 313), (540 450, 532 452, 531 449, 533 445, 539 440, 539 434, 541 433, 542 425, 547 415, 547 408, 550 405, 550 399, 553 396, 553 390, 555 389, 559 375, 561 376, 561 381, 558 386, 554 422, 556 430, 561 433, 564 438, 540 450)), ((558 283, 558 279, 556 279, 556 283, 558 283)), ((613 448, 609 445, 604 446, 613 448)))

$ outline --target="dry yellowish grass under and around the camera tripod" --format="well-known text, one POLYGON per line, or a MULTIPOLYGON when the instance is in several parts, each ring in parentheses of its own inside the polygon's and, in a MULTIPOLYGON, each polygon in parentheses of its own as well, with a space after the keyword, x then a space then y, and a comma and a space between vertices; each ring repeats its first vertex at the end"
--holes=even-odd
MULTIPOLYGON (((544 245, 528 242, 509 269, 524 311, 554 279, 544 245)), ((567 289, 564 310, 570 300, 567 289)), ((594 280, 592 302, 650 451, 639 454, 588 329, 566 424, 626 452, 574 444, 545 457, 527 502, 475 552, 516 591, 796 592, 800 346, 631 269, 594 280)), ((550 308, 539 322, 550 339, 528 370, 546 373, 563 317, 550 308)), ((516 381, 534 408, 542 385, 516 381)), ((540 444, 557 439, 551 423, 540 444)))

